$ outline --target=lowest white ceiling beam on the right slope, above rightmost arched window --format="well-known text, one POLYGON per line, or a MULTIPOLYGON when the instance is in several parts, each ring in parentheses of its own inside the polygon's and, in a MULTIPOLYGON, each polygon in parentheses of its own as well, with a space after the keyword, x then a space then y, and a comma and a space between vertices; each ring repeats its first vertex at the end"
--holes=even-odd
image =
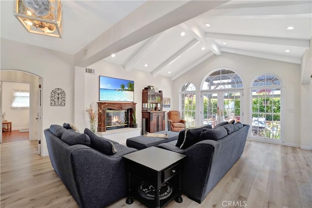
POLYGON ((295 58, 295 57, 287 57, 287 56, 238 50, 238 49, 232 49, 232 48, 223 48, 223 47, 221 47, 221 51, 231 53, 231 54, 244 55, 248 57, 264 58, 264 59, 275 60, 275 61, 283 61, 283 62, 288 62, 288 63, 301 64, 301 58, 295 58))

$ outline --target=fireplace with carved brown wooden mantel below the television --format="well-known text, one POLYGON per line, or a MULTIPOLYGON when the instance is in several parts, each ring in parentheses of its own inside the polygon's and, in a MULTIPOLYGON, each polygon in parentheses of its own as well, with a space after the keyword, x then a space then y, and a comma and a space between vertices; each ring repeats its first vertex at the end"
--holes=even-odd
POLYGON ((98 132, 110 129, 133 127, 133 102, 98 102, 98 132))

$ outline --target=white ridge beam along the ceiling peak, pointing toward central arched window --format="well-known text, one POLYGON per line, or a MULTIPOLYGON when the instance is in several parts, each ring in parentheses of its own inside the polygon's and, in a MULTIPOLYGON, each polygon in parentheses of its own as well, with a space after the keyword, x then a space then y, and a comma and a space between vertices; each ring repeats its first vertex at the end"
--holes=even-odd
POLYGON ((200 29, 200 27, 194 21, 187 21, 180 24, 181 28, 183 28, 188 34, 196 38, 203 45, 209 48, 215 55, 220 56, 221 51, 219 46, 215 43, 214 40, 205 38, 205 32, 200 29))

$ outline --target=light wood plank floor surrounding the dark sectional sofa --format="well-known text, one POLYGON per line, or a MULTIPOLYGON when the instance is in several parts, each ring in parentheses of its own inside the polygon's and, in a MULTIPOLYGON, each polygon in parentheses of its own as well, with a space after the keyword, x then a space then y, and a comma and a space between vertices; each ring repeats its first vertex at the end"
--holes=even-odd
MULTIPOLYGON (((1 208, 78 208, 51 167, 37 154, 37 141, 4 143, 1 149, 1 208)), ((202 204, 185 195, 168 208, 311 208, 312 152, 247 141, 242 157, 202 204), (234 205, 234 206, 233 206, 234 205)), ((109 208, 144 207, 125 198, 109 208)))

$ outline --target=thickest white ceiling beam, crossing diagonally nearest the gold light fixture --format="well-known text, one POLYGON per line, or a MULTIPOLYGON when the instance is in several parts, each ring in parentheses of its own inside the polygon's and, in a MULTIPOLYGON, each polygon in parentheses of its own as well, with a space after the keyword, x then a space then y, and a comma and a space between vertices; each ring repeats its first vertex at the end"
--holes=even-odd
POLYGON ((228 1, 146 1, 78 51, 74 56, 74 65, 87 67, 228 1))

